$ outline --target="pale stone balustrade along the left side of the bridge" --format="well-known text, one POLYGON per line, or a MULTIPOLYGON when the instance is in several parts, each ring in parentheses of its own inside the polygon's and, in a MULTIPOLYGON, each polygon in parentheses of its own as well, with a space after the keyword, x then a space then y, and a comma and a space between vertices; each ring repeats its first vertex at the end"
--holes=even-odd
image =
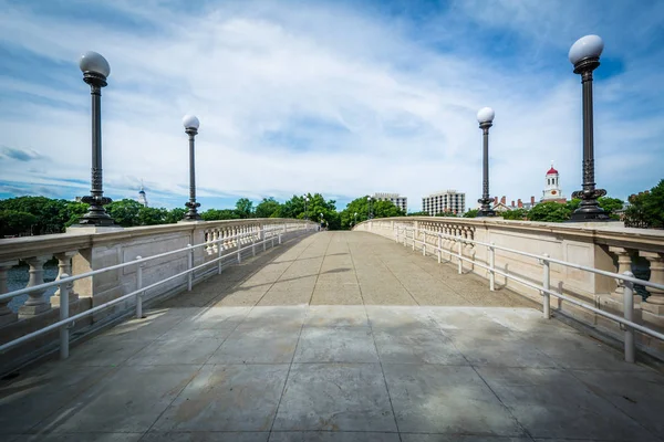
MULTIPOLYGON (((188 269, 189 254, 193 254, 193 266, 212 261, 221 255, 218 265, 210 264, 194 274, 194 280, 200 280, 212 271, 237 263, 246 256, 255 255, 267 246, 274 245, 280 239, 288 239, 304 232, 313 232, 317 227, 302 220, 287 219, 253 219, 208 222, 183 222, 177 224, 128 228, 128 229, 70 229, 68 233, 41 236, 25 236, 0 240, 0 295, 9 292, 8 274, 28 272, 28 287, 44 282, 44 263, 58 261, 58 276, 81 275, 91 271, 112 265, 127 263, 138 256, 149 257, 166 252, 186 248, 188 244, 206 244, 194 249, 193 252, 178 252, 151 260, 143 264, 143 286, 165 280, 188 269), (238 234, 241 234, 238 239, 238 234), (226 239, 226 240, 225 240, 226 239), (262 241, 262 240, 268 241, 262 241), (271 241, 270 241, 271 240, 271 241), (258 245, 247 246, 252 243, 258 245), (230 254, 232 250, 238 253, 230 254), (17 266, 19 262, 28 265, 17 266)), ((137 266, 95 274, 74 281, 69 287, 70 316, 92 307, 116 299, 136 290, 137 266)), ((165 293, 176 293, 187 283, 187 276, 175 278, 147 293, 145 299, 165 293)), ((13 287, 19 290, 23 287, 13 287)), ((60 293, 56 291, 46 297, 46 290, 31 292, 24 303, 15 308, 9 308, 11 299, 0 299, 0 345, 41 329, 58 322, 60 293)), ((134 301, 135 302, 135 301, 134 301)), ((117 316, 118 313, 132 308, 133 301, 118 303, 107 309, 94 313, 86 320, 76 322, 75 328, 89 327, 95 322, 117 316)), ((31 350, 38 350, 52 343, 56 335, 44 335, 43 338, 31 341, 0 355, 0 372, 31 350)))

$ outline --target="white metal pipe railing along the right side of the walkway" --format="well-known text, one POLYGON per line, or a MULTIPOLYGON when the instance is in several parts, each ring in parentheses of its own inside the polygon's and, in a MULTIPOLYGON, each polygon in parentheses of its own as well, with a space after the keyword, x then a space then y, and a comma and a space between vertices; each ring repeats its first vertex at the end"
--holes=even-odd
MULTIPOLYGON (((588 309, 590 312, 593 312, 600 316, 603 316, 608 319, 614 320, 616 323, 619 323, 621 325, 621 327, 624 328, 624 357, 625 357, 625 361, 627 362, 634 362, 634 354, 635 354, 635 346, 634 346, 634 330, 639 330, 645 335, 652 336, 654 338, 657 338, 660 340, 664 340, 664 334, 658 333, 656 330, 653 330, 651 328, 647 328, 641 324, 634 323, 634 284, 641 284, 643 286, 646 287, 654 287, 654 288, 660 288, 660 290, 664 290, 664 285, 663 284, 656 284, 656 283, 651 283, 650 281, 644 281, 644 280, 640 280, 637 277, 634 277, 634 274, 632 272, 624 272, 624 273, 615 273, 615 272, 608 272, 608 271, 603 271, 600 269, 594 269, 594 267, 589 267, 585 265, 580 265, 580 264, 574 264, 574 263, 570 263, 567 261, 562 261, 562 260, 557 260, 557 259, 552 259, 550 257, 548 254, 542 254, 542 255, 537 255, 535 253, 529 253, 529 252, 522 252, 519 250, 515 250, 515 249, 509 249, 509 248, 504 248, 500 245, 496 245, 495 243, 490 243, 487 244, 485 242, 481 241, 475 241, 475 240, 470 240, 467 238, 463 238, 463 236, 455 236, 455 235, 450 235, 447 233, 442 233, 442 232, 436 232, 436 231, 428 231, 428 230, 423 230, 423 229, 413 229, 413 228, 405 228, 405 227, 395 227, 395 238, 396 241, 398 242, 398 238, 403 235, 404 238, 404 245, 406 245, 406 241, 409 240, 412 245, 413 245, 413 250, 415 250, 415 244, 422 244, 422 249, 423 251, 426 250, 426 245, 433 246, 438 254, 438 262, 440 262, 440 254, 443 252, 447 253, 449 255, 449 259, 452 260, 452 256, 455 256, 458 260, 458 272, 459 274, 463 273, 463 263, 464 262, 470 262, 473 265, 477 265, 480 269, 486 269, 489 272, 489 288, 491 291, 495 290, 495 275, 502 275, 505 276, 506 280, 511 280, 515 281, 519 284, 522 284, 527 287, 530 288, 535 288, 537 291, 539 291, 539 293, 542 295, 542 314, 544 318, 550 318, 551 317, 551 313, 550 313, 550 296, 554 296, 559 299, 566 301, 570 304, 573 304, 578 307, 588 309), (408 238, 408 233, 412 233, 411 238, 408 238), (419 240, 417 236, 418 232, 424 232, 424 241, 419 240), (426 234, 434 234, 438 238, 438 244, 437 246, 430 244, 430 243, 426 243, 426 234), (442 239, 448 239, 450 241, 454 241, 458 244, 458 249, 457 249, 457 253, 455 254, 454 252, 452 252, 452 250, 446 250, 445 248, 442 246, 442 239), (466 256, 463 256, 463 251, 461 251, 461 244, 463 243, 470 243, 470 244, 477 244, 477 245, 485 245, 487 246, 487 250, 489 252, 488 254, 488 261, 489 264, 486 265, 481 262, 475 261, 473 259, 468 259, 466 256), (518 255, 522 255, 522 256, 528 256, 528 257, 532 257, 536 259, 538 261, 539 264, 542 265, 542 284, 536 284, 532 283, 528 280, 525 280, 522 277, 509 274, 507 272, 502 272, 500 270, 496 269, 495 265, 495 253, 496 250, 501 250, 508 253, 515 253, 518 255), (623 286, 623 309, 624 309, 624 317, 620 317, 618 315, 614 315, 612 313, 602 311, 600 308, 596 308, 592 305, 585 304, 581 301, 578 301, 573 297, 563 295, 562 293, 558 293, 554 291, 551 291, 550 284, 551 284, 551 267, 550 264, 551 263, 556 263, 556 264, 560 264, 563 266, 568 266, 571 269, 577 269, 577 270, 581 270, 581 271, 585 271, 585 272, 590 272, 590 273, 595 273, 599 275, 604 275, 604 276, 610 276, 612 278, 615 278, 620 282, 620 284, 622 284, 623 286)), ((452 244, 450 244, 452 245, 452 244)), ((452 249, 452 248, 450 248, 452 249)))

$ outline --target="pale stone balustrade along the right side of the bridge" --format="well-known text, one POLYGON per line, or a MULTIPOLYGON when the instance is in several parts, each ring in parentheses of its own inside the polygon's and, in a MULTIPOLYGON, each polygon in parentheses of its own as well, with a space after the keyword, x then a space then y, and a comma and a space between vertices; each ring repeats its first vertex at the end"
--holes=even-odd
MULTIPOLYGON (((521 252, 543 255, 608 272, 623 273, 632 270, 636 261, 645 263, 650 270, 646 281, 664 284, 664 231, 630 229, 620 223, 546 223, 508 221, 502 219, 464 219, 407 217, 375 219, 357 224, 354 230, 367 231, 390 239, 396 239, 397 229, 414 231, 417 240, 408 246, 422 250, 430 248, 426 254, 436 255, 434 248, 442 248, 443 261, 457 264, 458 242, 438 238, 435 233, 460 236, 521 252), (432 233, 433 232, 433 233, 432 233)), ((411 235, 413 233, 409 233, 411 235)), ((400 239, 403 242, 404 238, 400 239)), ((486 246, 461 242, 464 257, 489 265, 489 250, 486 246)), ((473 272, 489 277, 487 270, 463 261, 464 272, 473 272)), ((501 250, 495 252, 496 269, 526 281, 542 281, 542 266, 537 260, 501 250)), ((639 272, 635 272, 637 275, 639 272)), ((623 287, 614 278, 566 265, 550 267, 551 287, 558 293, 571 295, 591 306, 613 314, 623 314, 623 287)), ((497 287, 508 287, 537 302, 541 302, 537 290, 527 287, 505 276, 496 275, 497 287)), ((649 296, 634 296, 634 320, 657 332, 664 330, 664 291, 646 287, 649 296)), ((615 337, 621 336, 616 323, 582 307, 561 299, 551 299, 552 307, 587 325, 591 325, 615 337)), ((642 348, 652 350, 657 357, 664 356, 664 343, 649 336, 639 335, 642 348)))

